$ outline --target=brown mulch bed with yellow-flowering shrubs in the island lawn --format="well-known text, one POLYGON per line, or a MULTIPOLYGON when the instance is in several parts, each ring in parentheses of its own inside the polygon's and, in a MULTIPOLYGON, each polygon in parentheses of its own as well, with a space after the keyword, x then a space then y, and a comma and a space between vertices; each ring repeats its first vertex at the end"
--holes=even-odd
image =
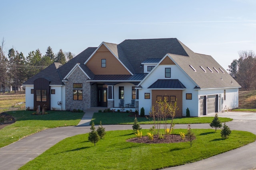
POLYGON ((179 142, 186 142, 188 140, 184 139, 182 140, 180 135, 164 135, 164 139, 159 139, 157 135, 154 135, 154 139, 150 141, 147 136, 142 136, 142 138, 131 138, 127 139, 127 142, 133 142, 133 143, 179 143, 179 142))

